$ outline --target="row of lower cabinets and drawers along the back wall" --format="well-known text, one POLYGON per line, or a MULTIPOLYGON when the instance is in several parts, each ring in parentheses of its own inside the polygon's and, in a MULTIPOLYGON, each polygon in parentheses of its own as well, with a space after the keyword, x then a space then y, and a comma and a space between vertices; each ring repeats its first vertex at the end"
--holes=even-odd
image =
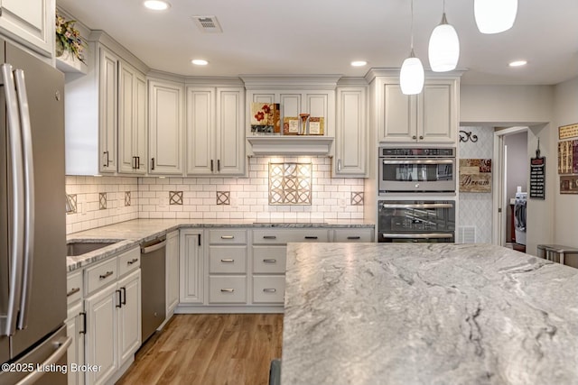
POLYGON ((373 227, 183 229, 178 312, 283 311, 287 243, 373 239, 373 227))

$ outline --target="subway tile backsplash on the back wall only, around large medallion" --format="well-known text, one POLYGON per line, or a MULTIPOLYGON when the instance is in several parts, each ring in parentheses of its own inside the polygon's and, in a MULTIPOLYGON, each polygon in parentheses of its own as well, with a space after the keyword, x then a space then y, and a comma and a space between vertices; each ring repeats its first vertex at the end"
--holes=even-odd
POLYGON ((141 178, 138 188, 141 218, 363 219, 363 206, 351 205, 351 193, 363 192, 363 179, 331 178, 327 157, 253 157, 248 178, 141 178), (269 205, 270 162, 312 163, 311 205, 269 205), (169 192, 177 190, 182 191, 182 205, 170 205, 169 192))

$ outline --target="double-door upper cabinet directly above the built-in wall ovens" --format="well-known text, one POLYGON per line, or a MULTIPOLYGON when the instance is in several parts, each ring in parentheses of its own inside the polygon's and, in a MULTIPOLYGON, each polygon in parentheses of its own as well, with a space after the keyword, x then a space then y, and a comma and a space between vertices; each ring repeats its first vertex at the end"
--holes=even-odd
POLYGON ((401 92, 396 78, 378 78, 379 142, 452 143, 458 132, 456 79, 426 79, 415 96, 401 92))

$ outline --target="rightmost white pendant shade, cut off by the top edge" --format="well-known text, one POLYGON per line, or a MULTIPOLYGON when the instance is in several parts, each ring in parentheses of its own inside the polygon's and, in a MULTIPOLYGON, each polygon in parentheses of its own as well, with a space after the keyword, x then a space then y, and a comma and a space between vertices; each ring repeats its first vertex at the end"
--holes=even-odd
POLYGON ((473 11, 481 33, 504 32, 514 25, 517 0, 474 0, 473 11))

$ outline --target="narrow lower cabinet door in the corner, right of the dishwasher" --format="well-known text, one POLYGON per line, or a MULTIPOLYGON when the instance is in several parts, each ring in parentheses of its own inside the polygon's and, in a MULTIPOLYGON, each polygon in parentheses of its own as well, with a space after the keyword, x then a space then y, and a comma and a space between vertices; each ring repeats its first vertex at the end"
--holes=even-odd
POLYGON ((202 304, 204 269, 199 233, 182 231, 180 260, 180 301, 202 304))

